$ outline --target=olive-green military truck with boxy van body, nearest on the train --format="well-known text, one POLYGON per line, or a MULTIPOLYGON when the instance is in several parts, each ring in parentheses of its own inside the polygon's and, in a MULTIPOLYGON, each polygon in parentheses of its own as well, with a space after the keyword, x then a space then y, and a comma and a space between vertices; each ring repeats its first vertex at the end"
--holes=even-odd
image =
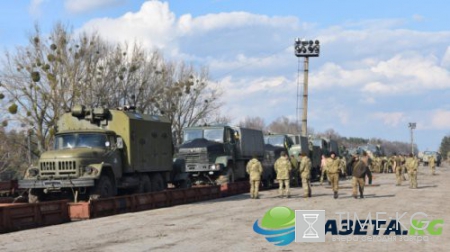
MULTIPOLYGON (((173 169, 168 119, 122 110, 75 106, 57 123, 53 150, 42 153, 19 188, 29 201, 54 193, 90 198, 110 197, 118 190, 161 191, 167 182, 181 183, 173 169)), ((76 197, 75 197, 76 198, 76 197)))

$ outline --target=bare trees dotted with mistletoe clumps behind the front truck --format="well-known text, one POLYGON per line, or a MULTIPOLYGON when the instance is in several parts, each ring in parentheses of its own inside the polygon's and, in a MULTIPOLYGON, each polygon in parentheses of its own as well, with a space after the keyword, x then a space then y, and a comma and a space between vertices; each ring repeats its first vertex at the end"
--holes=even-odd
POLYGON ((61 24, 50 36, 36 26, 30 44, 6 52, 2 63, 0 98, 11 100, 9 113, 33 129, 41 151, 51 142, 59 116, 74 104, 135 105, 141 112, 163 114, 177 142, 184 127, 212 121, 222 105, 221 90, 206 67, 167 62, 157 51, 137 43, 112 45, 96 33, 74 38, 61 24))

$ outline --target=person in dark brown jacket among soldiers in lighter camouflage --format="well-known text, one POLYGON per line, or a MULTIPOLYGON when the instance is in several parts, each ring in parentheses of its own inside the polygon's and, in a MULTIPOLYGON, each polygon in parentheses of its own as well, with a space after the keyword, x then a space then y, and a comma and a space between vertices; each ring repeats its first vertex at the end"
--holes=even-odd
POLYGON ((353 178, 352 178, 352 186, 353 186, 353 197, 355 199, 358 198, 356 188, 359 188, 359 197, 364 198, 364 185, 366 183, 366 176, 369 178, 369 185, 372 184, 372 173, 370 172, 368 163, 368 156, 366 152, 363 152, 362 157, 357 160, 353 165, 353 178))

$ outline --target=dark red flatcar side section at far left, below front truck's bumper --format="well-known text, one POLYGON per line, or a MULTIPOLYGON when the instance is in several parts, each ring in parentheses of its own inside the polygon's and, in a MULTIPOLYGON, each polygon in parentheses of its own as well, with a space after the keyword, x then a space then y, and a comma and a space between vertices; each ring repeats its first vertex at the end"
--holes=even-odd
POLYGON ((0 233, 69 222, 68 201, 0 204, 0 233))

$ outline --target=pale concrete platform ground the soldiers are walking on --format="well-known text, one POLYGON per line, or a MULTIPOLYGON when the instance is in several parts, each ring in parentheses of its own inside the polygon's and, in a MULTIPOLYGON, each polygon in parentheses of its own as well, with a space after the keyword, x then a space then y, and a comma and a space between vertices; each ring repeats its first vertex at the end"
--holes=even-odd
MULTIPOLYGON (((122 214, 88 221, 44 227, 0 235, 0 251, 448 251, 450 248, 450 166, 420 167, 418 189, 409 182, 395 186, 394 174, 374 174, 366 187, 364 199, 351 197, 350 180, 341 180, 339 199, 327 186, 313 183, 313 197, 304 199, 301 188, 291 190, 292 197, 278 198, 277 190, 264 191, 261 199, 249 194, 201 203, 122 214), (428 241, 333 241, 327 234, 322 243, 295 243, 275 246, 252 229, 253 223, 275 206, 293 210, 325 210, 327 219, 337 219, 336 212, 369 213, 424 212, 429 219, 443 219, 440 236, 426 235, 428 241)), ((409 219, 408 219, 409 220, 409 219)), ((343 236, 341 236, 343 237, 343 236)), ((347 236, 350 238, 356 235, 347 236)), ((408 236, 409 237, 409 236, 408 236)), ((402 238, 402 239, 401 239, 402 238)))

